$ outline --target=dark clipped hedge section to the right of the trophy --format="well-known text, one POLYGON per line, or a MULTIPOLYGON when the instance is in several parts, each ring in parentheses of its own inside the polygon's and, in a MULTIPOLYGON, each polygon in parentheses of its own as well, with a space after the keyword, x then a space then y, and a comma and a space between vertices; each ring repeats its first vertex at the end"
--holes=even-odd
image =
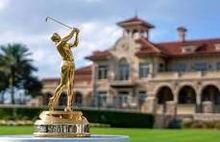
POLYGON ((152 128, 154 116, 151 114, 82 110, 84 116, 92 123, 109 124, 111 127, 152 128))

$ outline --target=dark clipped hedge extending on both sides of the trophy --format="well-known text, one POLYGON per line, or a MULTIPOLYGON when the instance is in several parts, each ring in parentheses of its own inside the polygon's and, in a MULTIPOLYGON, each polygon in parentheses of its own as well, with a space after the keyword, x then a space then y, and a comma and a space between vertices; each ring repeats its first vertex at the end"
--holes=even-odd
MULTIPOLYGON (((1 107, 0 119, 36 120, 43 110, 46 109, 1 107)), ((90 123, 109 124, 111 127, 152 128, 154 124, 154 116, 152 114, 91 109, 82 109, 80 111, 83 112, 83 115, 90 123)))

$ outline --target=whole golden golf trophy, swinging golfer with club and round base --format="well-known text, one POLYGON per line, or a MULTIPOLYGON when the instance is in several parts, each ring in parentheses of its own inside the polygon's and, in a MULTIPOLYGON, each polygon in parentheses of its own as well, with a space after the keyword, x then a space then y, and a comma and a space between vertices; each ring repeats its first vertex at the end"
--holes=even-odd
POLYGON ((71 48, 78 46, 79 29, 70 27, 52 17, 46 18, 46 21, 49 20, 69 28, 70 32, 63 38, 58 33, 53 33, 51 36, 51 40, 62 58, 61 79, 54 95, 49 100, 49 111, 43 111, 39 116, 40 120, 34 123, 34 136, 88 137, 90 136, 89 122, 82 112, 72 110, 75 66, 71 48), (73 42, 71 42, 71 39, 73 39, 73 42), (67 106, 63 111, 57 111, 55 107, 64 89, 67 92, 67 106))

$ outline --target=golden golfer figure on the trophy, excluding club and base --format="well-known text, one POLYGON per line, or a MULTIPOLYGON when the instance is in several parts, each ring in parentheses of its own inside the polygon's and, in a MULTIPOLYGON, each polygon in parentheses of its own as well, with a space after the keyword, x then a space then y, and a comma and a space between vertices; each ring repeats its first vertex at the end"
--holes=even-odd
POLYGON ((61 38, 58 33, 53 33, 53 35, 51 36, 51 40, 55 43, 57 51, 62 58, 62 67, 60 84, 57 86, 55 93, 50 98, 48 104, 50 111, 54 110, 65 87, 67 88, 67 106, 65 108, 65 111, 72 111, 75 66, 71 48, 78 45, 78 35, 79 29, 72 28, 71 32, 64 38, 61 38), (69 42, 72 38, 74 38, 74 35, 75 40, 73 41, 73 43, 69 42))

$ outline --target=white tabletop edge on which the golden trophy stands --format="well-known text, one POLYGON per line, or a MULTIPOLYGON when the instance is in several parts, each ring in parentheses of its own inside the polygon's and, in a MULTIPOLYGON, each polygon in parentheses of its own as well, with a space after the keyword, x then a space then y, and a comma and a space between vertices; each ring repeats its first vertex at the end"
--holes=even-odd
POLYGON ((91 135, 81 138, 33 137, 31 135, 0 136, 1 142, 129 142, 128 136, 91 135))

